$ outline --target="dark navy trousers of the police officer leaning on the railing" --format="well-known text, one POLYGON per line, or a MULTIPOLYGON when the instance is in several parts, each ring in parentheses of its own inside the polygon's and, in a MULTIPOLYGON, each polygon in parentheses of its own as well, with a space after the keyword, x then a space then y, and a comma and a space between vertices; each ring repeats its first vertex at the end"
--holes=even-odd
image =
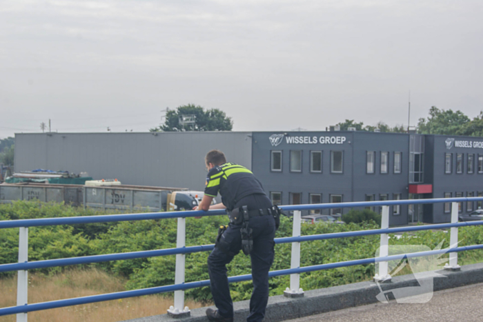
MULTIPOLYGON (((250 228, 253 229, 253 251, 250 253, 252 261, 253 293, 250 299, 250 314, 248 322, 262 321, 268 302, 268 271, 273 263, 275 254, 275 220, 272 216, 258 216, 250 218, 250 228)), ((211 293, 213 301, 221 316, 233 317, 233 301, 228 288, 226 264, 242 249, 242 225, 230 223, 221 238, 230 244, 228 252, 215 247, 208 257, 208 272, 210 274, 211 293)), ((243 255, 244 256, 244 255, 243 255)))

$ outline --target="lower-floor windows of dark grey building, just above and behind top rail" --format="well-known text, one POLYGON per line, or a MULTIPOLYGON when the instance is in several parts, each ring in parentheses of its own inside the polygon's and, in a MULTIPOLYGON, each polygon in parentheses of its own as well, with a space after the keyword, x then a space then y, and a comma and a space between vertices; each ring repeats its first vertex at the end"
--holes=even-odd
MULTIPOLYGON (((302 192, 289 192, 289 203, 290 205, 300 205, 302 204, 302 192)), ((330 203, 342 203, 343 194, 329 194, 330 203)), ((270 200, 274 205, 282 204, 282 192, 280 191, 270 191, 270 200)), ((380 194, 379 200, 389 200, 389 194, 380 194)), ((392 200, 401 200, 401 194, 393 194, 392 200)), ((375 201, 375 194, 366 194, 366 201, 375 201)), ((308 203, 322 203, 322 194, 308 194, 308 203)), ((401 206, 393 205, 392 213, 394 215, 401 214, 401 206)), ((374 211, 374 207, 368 207, 374 211)), ((380 212, 382 212, 382 207, 380 207, 380 212)), ((320 214, 320 210, 311 210, 311 214, 320 214)), ((340 216, 342 214, 342 208, 332 208, 329 214, 333 216, 340 216)))

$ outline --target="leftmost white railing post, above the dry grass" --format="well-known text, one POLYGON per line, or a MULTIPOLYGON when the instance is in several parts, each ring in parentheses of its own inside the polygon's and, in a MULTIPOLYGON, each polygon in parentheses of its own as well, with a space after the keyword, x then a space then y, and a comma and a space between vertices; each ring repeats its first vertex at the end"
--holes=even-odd
MULTIPOLYGON (((19 263, 28 261, 28 228, 19 231, 19 263)), ((28 303, 28 271, 19 270, 17 277, 17 306, 28 303)), ((17 322, 27 322, 27 313, 17 314, 17 322)))

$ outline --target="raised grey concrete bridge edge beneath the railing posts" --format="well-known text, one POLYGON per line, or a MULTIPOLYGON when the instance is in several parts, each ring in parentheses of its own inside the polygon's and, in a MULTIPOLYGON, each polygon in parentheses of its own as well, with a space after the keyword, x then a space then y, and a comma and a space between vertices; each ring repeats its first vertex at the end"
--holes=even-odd
MULTIPOLYGON (((439 270, 428 272, 423 279, 433 279, 433 290, 446 290, 458 288, 464 285, 483 283, 483 263, 464 265, 460 271, 451 272, 439 270), (440 276, 434 276, 434 273, 440 276)), ((421 279, 420 279, 421 281, 421 279)), ((431 283, 431 281, 429 281, 431 283)), ((380 284, 383 291, 409 286, 417 286, 420 283, 414 275, 395 276, 391 283, 380 284)), ((353 308, 359 305, 377 303, 376 295, 381 292, 379 286, 372 282, 360 282, 348 285, 322 288, 319 290, 306 291, 304 297, 290 299, 283 295, 270 296, 266 309, 266 322, 279 322, 297 319, 302 316, 310 316, 329 311, 353 308)), ((248 316, 250 301, 233 303, 235 309, 235 322, 242 322, 248 316)), ((213 308, 213 307, 212 307, 213 308)), ((191 310, 191 315, 181 319, 173 319, 168 314, 147 316, 144 318, 127 320, 129 322, 207 322, 206 308, 191 310)))

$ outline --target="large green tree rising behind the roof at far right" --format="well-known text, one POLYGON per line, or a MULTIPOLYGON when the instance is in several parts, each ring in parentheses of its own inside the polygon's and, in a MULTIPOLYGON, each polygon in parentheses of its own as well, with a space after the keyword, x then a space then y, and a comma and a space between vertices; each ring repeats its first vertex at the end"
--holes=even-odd
POLYGON ((421 118, 417 123, 417 132, 421 134, 457 135, 470 122, 463 112, 457 110, 440 110, 436 106, 429 109, 429 117, 421 118))

